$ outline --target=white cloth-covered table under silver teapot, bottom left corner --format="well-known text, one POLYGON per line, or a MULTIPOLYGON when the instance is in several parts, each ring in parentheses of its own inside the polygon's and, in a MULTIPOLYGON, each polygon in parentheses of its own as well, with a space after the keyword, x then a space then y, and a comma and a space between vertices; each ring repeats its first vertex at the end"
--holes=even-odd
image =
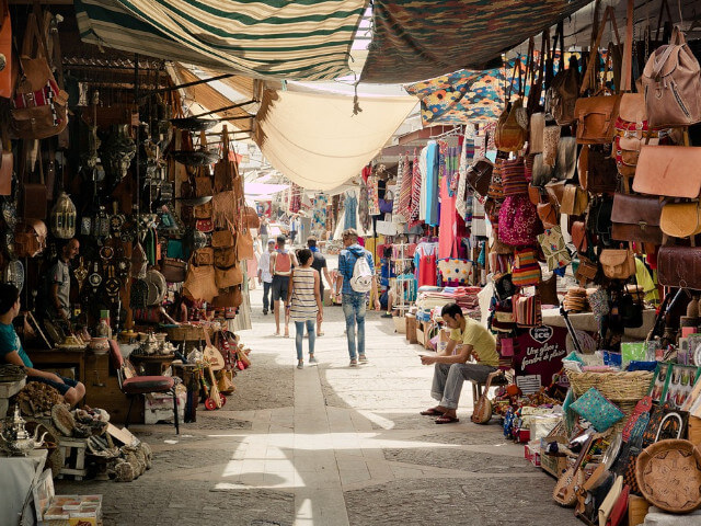
POLYGON ((34 449, 26 457, 0 456, 0 524, 3 526, 32 524, 20 523, 20 518, 25 504, 31 511, 32 485, 44 470, 47 454, 46 449, 34 449))

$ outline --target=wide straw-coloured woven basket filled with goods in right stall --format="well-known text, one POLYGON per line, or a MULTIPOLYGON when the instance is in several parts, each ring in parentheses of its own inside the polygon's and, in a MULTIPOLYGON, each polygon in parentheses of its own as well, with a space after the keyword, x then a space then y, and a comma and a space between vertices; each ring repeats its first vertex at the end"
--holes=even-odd
POLYGON ((624 373, 575 373, 567 371, 570 385, 576 397, 595 387, 611 402, 635 401, 647 395, 653 373, 634 370, 624 373))

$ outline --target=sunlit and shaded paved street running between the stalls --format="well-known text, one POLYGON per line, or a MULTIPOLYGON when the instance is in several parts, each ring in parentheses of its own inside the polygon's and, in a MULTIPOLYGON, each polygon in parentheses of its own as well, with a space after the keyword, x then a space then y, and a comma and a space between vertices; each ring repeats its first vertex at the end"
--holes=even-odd
POLYGON ((226 407, 200 405, 180 436, 170 424, 131 426, 153 449, 150 471, 130 483, 57 481, 57 493, 102 493, 105 526, 578 524, 496 419, 470 423, 469 386, 459 424, 418 414, 434 403, 433 368, 392 320, 368 312, 370 363, 349 367, 343 312, 326 307, 319 366, 298 370, 294 338, 273 335, 260 288, 251 299, 241 336, 253 366, 226 407))

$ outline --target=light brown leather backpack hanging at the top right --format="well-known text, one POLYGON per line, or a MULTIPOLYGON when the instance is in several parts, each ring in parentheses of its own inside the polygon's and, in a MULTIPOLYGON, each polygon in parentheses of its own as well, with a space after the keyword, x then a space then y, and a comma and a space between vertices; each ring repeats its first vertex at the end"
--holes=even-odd
POLYGON ((669 45, 651 55, 643 70, 647 118, 652 126, 689 126, 701 122, 699 61, 675 27, 669 45))

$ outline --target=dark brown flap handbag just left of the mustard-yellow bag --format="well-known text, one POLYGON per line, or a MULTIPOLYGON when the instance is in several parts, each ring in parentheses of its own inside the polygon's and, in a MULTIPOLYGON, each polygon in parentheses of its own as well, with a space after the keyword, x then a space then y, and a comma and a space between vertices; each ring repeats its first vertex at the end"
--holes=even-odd
POLYGON ((660 244, 660 214, 663 207, 657 197, 616 194, 611 209, 611 238, 660 244))

